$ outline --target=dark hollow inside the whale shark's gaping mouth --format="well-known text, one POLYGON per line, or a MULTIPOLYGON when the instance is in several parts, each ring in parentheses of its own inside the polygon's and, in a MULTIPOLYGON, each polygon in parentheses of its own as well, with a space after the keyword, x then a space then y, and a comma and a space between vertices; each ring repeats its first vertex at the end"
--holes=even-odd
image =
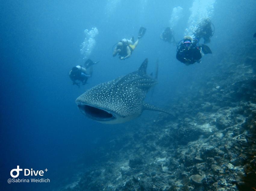
POLYGON ((79 109, 85 112, 87 115, 90 115, 95 118, 113 118, 111 113, 108 113, 102 109, 98 109, 96 107, 88 106, 88 105, 78 105, 79 109))

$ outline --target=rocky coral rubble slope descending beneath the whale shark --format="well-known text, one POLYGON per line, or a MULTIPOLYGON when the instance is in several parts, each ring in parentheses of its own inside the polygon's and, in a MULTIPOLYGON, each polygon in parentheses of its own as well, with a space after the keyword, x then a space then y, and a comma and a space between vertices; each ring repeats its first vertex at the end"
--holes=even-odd
POLYGON ((253 190, 256 53, 248 54, 218 55, 206 81, 173 98, 176 120, 160 114, 111 137, 95 151, 101 162, 66 190, 253 190))

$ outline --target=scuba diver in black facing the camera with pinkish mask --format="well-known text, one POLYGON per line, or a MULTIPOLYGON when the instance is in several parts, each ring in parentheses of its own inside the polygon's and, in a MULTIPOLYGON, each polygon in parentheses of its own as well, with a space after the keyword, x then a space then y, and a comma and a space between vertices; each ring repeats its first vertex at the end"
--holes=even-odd
POLYGON ((196 38, 192 39, 190 36, 185 36, 183 42, 181 41, 177 44, 176 58, 186 65, 194 64, 195 62, 200 63, 202 58, 201 51, 204 54, 212 53, 208 46, 199 45, 199 40, 196 38))

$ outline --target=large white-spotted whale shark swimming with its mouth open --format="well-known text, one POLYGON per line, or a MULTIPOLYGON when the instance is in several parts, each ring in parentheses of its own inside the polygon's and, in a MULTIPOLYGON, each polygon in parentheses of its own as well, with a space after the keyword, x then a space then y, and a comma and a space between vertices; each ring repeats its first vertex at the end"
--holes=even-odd
POLYGON ((78 109, 88 118, 106 124, 130 121, 144 110, 168 113, 144 102, 150 88, 157 84, 156 78, 147 75, 147 66, 146 58, 137 71, 87 90, 76 99, 78 109))

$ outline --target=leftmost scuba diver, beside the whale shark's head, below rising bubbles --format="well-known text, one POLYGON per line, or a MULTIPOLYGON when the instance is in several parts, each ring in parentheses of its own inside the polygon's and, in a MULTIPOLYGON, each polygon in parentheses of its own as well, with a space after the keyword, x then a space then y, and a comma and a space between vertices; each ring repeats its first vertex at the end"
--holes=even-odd
POLYGON ((88 78, 92 77, 92 65, 97 64, 98 62, 93 62, 91 59, 87 59, 84 63, 84 67, 82 66, 75 66, 72 68, 72 70, 69 72, 69 77, 73 81, 73 85, 77 85, 80 87, 80 83, 82 82, 83 85, 86 84, 88 78), (86 73, 86 69, 90 67, 89 74, 86 73), (76 82, 80 81, 80 82, 76 82))

